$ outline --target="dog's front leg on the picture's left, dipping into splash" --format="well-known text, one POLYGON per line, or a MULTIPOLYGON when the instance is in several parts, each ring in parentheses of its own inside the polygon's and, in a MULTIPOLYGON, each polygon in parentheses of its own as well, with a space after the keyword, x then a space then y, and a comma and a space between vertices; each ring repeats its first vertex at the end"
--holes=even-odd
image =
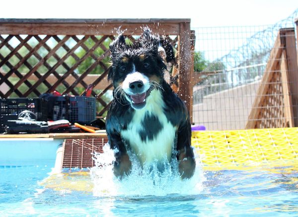
POLYGON ((114 174, 121 179, 124 175, 130 174, 132 162, 121 140, 121 136, 117 134, 108 136, 111 148, 115 151, 114 174))

